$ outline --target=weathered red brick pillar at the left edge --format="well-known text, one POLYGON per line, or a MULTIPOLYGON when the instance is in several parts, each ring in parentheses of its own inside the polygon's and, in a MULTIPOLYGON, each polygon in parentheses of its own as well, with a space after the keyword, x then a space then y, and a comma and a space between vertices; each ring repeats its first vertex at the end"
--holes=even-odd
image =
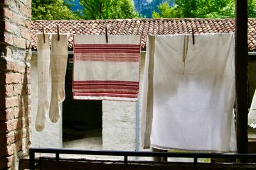
POLYGON ((31 132, 31 0, 0 0, 0 169, 18 169, 31 132))

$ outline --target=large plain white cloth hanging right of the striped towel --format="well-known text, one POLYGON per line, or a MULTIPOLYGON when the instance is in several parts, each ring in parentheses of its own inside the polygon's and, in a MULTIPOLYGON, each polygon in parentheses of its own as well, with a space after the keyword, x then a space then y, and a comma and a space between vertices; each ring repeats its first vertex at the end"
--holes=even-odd
POLYGON ((234 34, 149 35, 142 147, 236 151, 234 34))

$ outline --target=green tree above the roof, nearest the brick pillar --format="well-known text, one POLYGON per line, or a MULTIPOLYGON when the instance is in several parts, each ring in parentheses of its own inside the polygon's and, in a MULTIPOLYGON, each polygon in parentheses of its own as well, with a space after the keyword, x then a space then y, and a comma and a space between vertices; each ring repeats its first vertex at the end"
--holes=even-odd
POLYGON ((63 0, 32 0, 32 20, 78 19, 63 0))

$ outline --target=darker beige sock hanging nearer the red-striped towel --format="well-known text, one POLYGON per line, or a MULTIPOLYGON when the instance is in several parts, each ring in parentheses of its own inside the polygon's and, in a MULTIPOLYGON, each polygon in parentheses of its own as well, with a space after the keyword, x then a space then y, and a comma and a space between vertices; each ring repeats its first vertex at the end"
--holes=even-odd
POLYGON ((52 35, 50 70, 52 77, 52 89, 50 98, 50 121, 55 123, 60 118, 59 104, 65 100, 65 73, 68 60, 68 36, 52 35))

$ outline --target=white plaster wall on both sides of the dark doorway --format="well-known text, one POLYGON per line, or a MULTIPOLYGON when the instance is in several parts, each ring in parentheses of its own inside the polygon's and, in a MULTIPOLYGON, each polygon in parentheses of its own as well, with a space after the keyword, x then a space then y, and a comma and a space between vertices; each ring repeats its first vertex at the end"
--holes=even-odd
MULTIPOLYGON (((145 55, 142 54, 140 89, 142 89, 144 58, 145 55)), ((49 118, 46 118, 46 126, 42 132, 37 132, 35 128, 38 103, 37 64, 35 53, 31 58, 32 147, 61 148, 63 147, 62 117, 57 123, 51 123, 49 118)), ((50 83, 48 89, 50 96, 50 83)), ((102 101, 102 149, 129 151, 136 149, 136 109, 137 102, 102 101)))

